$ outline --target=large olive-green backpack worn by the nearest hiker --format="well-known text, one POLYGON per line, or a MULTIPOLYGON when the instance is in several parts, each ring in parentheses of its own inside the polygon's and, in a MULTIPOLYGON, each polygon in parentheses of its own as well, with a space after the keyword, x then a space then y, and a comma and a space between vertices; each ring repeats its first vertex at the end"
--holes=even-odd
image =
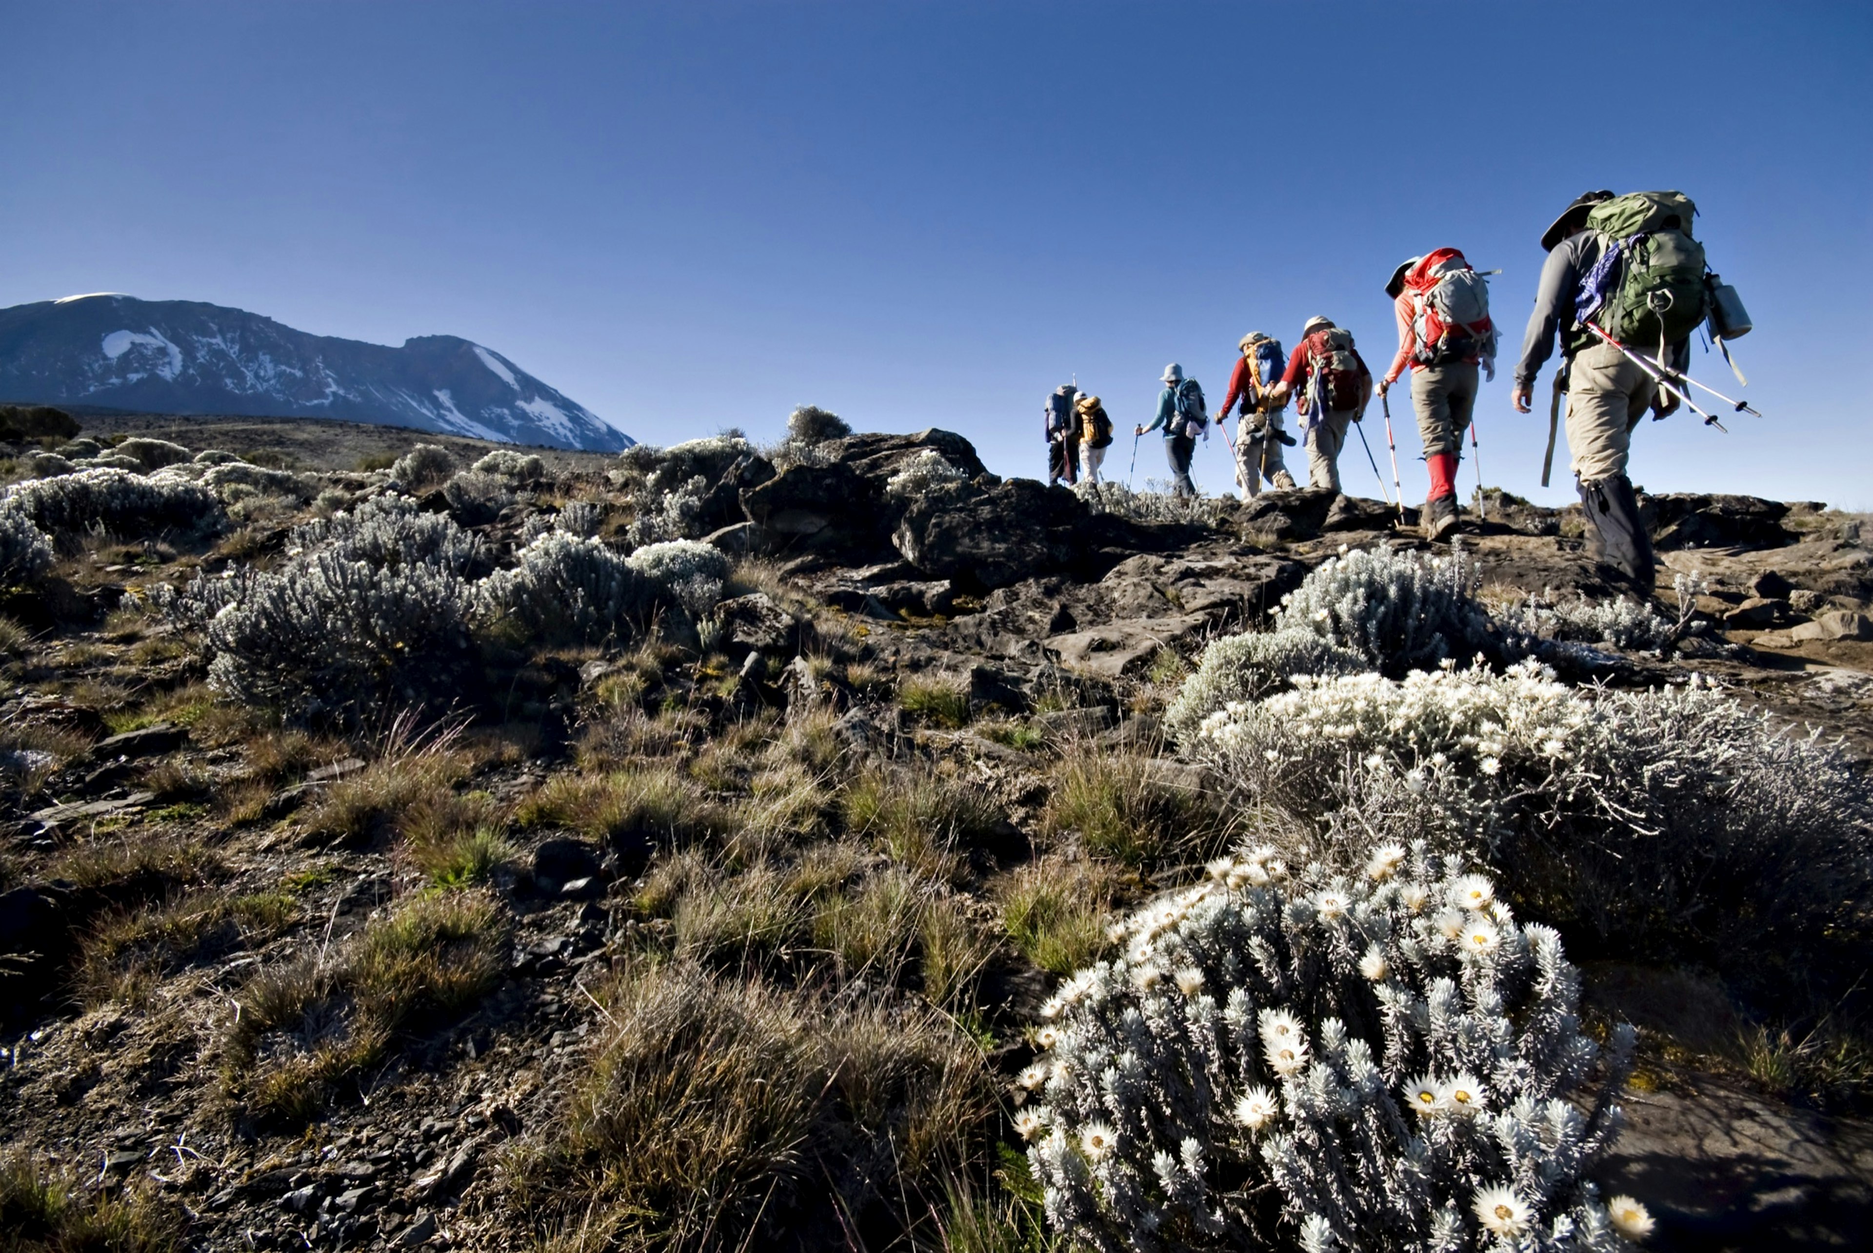
POLYGON ((1678 191, 1635 191, 1594 206, 1586 228, 1607 240, 1581 279, 1573 317, 1635 348, 1689 339, 1710 313, 1704 245, 1691 238, 1697 206, 1678 191))

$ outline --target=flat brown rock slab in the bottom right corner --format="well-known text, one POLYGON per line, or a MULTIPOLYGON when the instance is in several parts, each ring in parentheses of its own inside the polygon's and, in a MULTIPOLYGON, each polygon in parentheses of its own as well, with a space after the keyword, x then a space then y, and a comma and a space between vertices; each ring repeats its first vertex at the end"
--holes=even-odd
POLYGON ((1718 1084, 1620 1105, 1626 1131, 1598 1174, 1652 1210, 1646 1247, 1873 1247, 1873 1126, 1718 1084))

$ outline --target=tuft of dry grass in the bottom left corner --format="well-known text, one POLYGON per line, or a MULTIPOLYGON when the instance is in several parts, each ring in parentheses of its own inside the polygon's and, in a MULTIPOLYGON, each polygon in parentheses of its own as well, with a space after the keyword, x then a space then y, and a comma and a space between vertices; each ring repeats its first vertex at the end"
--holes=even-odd
POLYGON ((6 1253, 170 1253, 182 1216, 144 1187, 88 1189, 62 1165, 0 1154, 0 1249, 6 1253))

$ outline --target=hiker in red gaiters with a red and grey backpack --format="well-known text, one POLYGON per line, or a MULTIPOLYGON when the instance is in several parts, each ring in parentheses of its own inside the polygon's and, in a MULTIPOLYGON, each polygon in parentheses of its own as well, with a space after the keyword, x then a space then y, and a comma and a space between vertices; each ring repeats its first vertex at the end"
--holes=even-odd
POLYGON ((1476 373, 1497 376, 1497 330, 1489 320, 1489 283, 1453 247, 1412 257, 1392 272, 1386 296, 1399 322, 1399 354, 1379 380, 1379 395, 1410 369, 1410 406, 1418 416, 1431 494, 1423 534, 1457 530, 1457 463, 1476 408, 1476 373))

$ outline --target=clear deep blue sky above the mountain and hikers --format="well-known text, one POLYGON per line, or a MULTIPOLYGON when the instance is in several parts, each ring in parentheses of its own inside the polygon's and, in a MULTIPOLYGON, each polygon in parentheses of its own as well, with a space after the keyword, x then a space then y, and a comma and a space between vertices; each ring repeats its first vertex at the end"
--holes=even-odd
MULTIPOLYGON (((1575 193, 1676 187, 1766 418, 1646 423, 1633 478, 1873 508, 1867 4, 0 0, 0 305, 455 333, 648 442, 819 403, 1038 474, 1069 375, 1129 423, 1167 361, 1219 399, 1244 332, 1313 313, 1382 367, 1384 279, 1438 245, 1504 270, 1519 343, 1575 193)), ((1489 483, 1571 496, 1508 369, 1478 429, 1489 483)), ((1197 470, 1231 487, 1219 442, 1197 470)))

